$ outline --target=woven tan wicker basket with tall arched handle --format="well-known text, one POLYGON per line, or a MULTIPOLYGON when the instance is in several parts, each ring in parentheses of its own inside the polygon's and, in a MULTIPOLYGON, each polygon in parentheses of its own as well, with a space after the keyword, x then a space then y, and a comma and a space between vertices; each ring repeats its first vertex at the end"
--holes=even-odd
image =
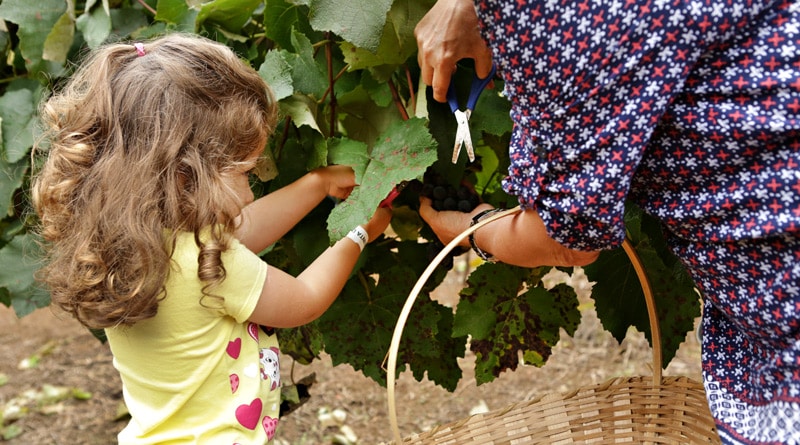
POLYGON ((661 335, 650 283, 631 244, 623 244, 644 291, 653 339, 653 376, 619 377, 563 394, 547 394, 401 438, 395 406, 397 352, 403 327, 433 269, 481 226, 520 209, 497 213, 461 233, 434 258, 412 289, 395 327, 387 357, 392 444, 512 445, 574 443, 718 444, 703 385, 661 375, 661 335))

